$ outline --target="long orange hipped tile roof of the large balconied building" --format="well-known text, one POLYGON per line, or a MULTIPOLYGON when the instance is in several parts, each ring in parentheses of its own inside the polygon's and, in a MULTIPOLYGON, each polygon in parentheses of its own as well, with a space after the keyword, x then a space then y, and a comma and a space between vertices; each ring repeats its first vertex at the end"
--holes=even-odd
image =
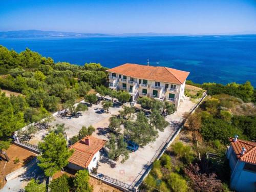
POLYGON ((144 66, 133 63, 125 63, 121 66, 106 70, 112 73, 118 73, 130 77, 183 84, 189 72, 180 71, 167 67, 144 66))

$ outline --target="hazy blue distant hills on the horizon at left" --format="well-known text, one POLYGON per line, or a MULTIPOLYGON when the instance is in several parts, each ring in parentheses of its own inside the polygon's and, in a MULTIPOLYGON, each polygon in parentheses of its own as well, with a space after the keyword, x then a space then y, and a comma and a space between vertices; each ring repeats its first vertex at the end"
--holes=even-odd
POLYGON ((73 33, 59 31, 40 31, 40 30, 24 30, 24 31, 4 31, 0 32, 0 38, 7 37, 101 37, 109 36, 101 33, 73 33))

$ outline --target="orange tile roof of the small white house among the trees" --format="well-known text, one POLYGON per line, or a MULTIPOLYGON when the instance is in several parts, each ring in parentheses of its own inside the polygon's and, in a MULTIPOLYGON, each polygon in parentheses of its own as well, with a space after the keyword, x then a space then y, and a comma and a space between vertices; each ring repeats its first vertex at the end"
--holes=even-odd
POLYGON ((69 148, 74 150, 74 153, 69 158, 69 162, 87 168, 93 156, 105 145, 106 141, 93 136, 87 136, 77 141, 69 148), (87 145, 84 139, 90 139, 90 145, 87 145))

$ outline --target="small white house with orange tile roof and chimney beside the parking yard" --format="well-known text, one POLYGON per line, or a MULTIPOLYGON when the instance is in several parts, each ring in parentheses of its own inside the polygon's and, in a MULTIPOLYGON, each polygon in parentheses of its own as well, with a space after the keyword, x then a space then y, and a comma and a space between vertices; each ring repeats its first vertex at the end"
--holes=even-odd
POLYGON ((100 159, 99 151, 106 141, 93 136, 87 136, 70 146, 74 153, 69 158, 69 168, 74 170, 88 169, 89 172, 96 168, 100 159))

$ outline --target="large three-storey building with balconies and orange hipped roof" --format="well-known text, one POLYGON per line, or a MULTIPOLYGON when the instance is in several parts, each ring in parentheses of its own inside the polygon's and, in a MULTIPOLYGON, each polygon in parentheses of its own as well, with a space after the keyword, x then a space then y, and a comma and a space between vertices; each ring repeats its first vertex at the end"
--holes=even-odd
POLYGON ((132 63, 106 71, 109 72, 109 87, 128 91, 132 101, 146 96, 172 102, 176 108, 184 97, 185 81, 189 75, 189 72, 172 68, 132 63))

